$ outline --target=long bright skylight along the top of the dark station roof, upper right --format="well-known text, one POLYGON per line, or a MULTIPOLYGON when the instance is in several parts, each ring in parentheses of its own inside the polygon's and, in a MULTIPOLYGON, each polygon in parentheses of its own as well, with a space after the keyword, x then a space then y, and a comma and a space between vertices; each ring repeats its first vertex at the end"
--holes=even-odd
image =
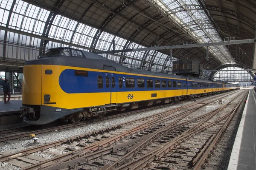
MULTIPOLYGON (((205 12, 201 9, 198 0, 155 0, 163 9, 173 16, 175 20, 183 25, 188 31, 195 33, 195 39, 199 42, 222 41, 215 28, 209 23, 205 12), (164 4, 163 4, 164 3, 164 4), (199 8, 198 8, 199 7, 199 8)), ((193 34, 192 34, 193 35, 193 34)), ((222 62, 233 62, 232 55, 226 47, 209 47, 209 51, 222 62), (217 52, 213 52, 217 51, 217 52)))

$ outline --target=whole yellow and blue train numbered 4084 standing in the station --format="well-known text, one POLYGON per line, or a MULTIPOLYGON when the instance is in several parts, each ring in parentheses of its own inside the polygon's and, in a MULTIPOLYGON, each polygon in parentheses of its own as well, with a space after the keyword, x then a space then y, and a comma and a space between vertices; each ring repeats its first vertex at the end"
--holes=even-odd
POLYGON ((57 119, 99 118, 159 103, 239 89, 203 79, 126 68, 97 54, 52 48, 23 68, 23 122, 42 125, 57 119))

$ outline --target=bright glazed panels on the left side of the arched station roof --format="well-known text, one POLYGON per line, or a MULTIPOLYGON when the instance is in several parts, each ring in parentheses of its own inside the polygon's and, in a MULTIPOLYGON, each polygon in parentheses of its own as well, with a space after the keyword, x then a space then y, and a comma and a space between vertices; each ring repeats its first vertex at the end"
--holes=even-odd
MULTIPOLYGON (((18 0, 12 8, 13 2, 13 0, 0 0, 0 13, 3 14, 0 25, 41 36, 44 32, 44 27, 47 23, 47 18, 50 15, 50 11, 26 3, 22 0, 18 0), (12 10, 12 14, 8 23, 10 10, 12 10)), ((95 37, 97 30, 97 28, 87 26, 83 23, 79 23, 75 20, 58 14, 55 16, 49 29, 49 34, 47 35, 47 37, 51 38, 52 41, 47 43, 46 51, 50 48, 60 46, 73 47, 85 51, 90 51, 89 49, 92 45, 93 37, 95 37), (55 40, 58 40, 58 42, 55 40), (67 43, 70 45, 67 45, 67 43), (77 45, 81 47, 78 47, 77 45)), ((4 40, 4 34, 5 31, 1 30, 1 40, 4 40)), ((6 41, 9 42, 9 45, 7 45, 7 57, 35 59, 41 50, 41 39, 36 37, 30 37, 8 31, 6 41), (22 46, 24 48, 17 50, 18 46, 22 46)), ((145 47, 134 42, 129 43, 128 46, 125 47, 128 40, 113 34, 109 34, 107 32, 103 32, 99 37, 95 49, 104 51, 112 50, 113 41, 115 42, 116 50, 145 47)), ((0 52, 3 52, 3 48, 2 51, 0 50, 0 52)), ((155 53, 154 51, 138 51, 127 52, 124 54, 119 53, 118 55, 102 55, 117 63, 122 63, 124 66, 129 68, 145 69, 151 71, 161 71, 163 68, 161 65, 164 64, 164 60, 166 57, 168 57, 166 54, 158 52, 155 53), (124 56, 125 58, 121 60, 120 56, 124 56), (145 65, 141 65, 143 61, 145 61, 145 65), (152 65, 149 64, 149 62, 152 63, 152 65)), ((171 63, 168 64, 169 67, 166 69, 166 71, 171 71, 171 63)))

